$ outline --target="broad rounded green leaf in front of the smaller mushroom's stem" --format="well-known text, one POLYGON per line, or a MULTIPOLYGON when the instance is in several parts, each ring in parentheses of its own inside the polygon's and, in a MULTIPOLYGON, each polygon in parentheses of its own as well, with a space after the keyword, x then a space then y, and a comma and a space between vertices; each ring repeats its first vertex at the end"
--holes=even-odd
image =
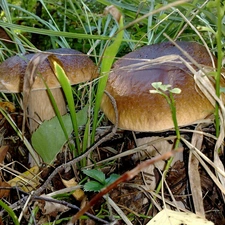
MULTIPOLYGON (((77 113, 77 123, 82 126, 87 121, 88 107, 84 107, 77 113)), ((71 117, 69 114, 62 116, 63 123, 68 134, 73 131, 71 117)), ((54 117, 51 120, 43 122, 31 137, 32 145, 35 151, 41 156, 45 163, 51 164, 56 155, 60 152, 63 145, 67 142, 62 127, 54 117)))

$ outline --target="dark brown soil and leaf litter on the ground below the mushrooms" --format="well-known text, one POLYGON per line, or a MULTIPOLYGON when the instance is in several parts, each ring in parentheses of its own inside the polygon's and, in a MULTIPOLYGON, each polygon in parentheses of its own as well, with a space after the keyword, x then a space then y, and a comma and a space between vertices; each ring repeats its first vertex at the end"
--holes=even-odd
MULTIPOLYGON (((22 124, 22 116, 18 113, 12 114, 16 124, 18 127, 21 127, 22 124)), ((12 129, 12 127, 7 123, 4 117, 1 117, 0 121, 0 131, 1 131, 1 144, 2 146, 8 146, 8 151, 4 155, 1 161, 1 167, 3 165, 7 165, 11 169, 15 170, 18 173, 23 173, 26 171, 26 168, 29 168, 28 164, 28 151, 26 150, 23 141, 20 140, 16 134, 16 132, 12 129)), ((187 129, 192 129, 192 127, 188 127, 187 129)), ((213 127, 207 127, 206 132, 210 132, 214 134, 213 127)), ((27 138, 29 138, 29 133, 26 134, 27 138)), ((153 134, 149 133, 138 133, 135 138, 143 138, 149 137, 153 134)), ((154 136, 159 137, 169 137, 170 135, 174 135, 173 132, 165 132, 154 134, 154 136)), ((191 135, 189 132, 182 133, 188 140, 191 139, 191 135)), ((135 145, 134 135, 131 132, 127 131, 118 131, 117 134, 111 140, 106 141, 101 146, 96 149, 92 155, 90 162, 98 162, 100 160, 108 159, 112 156, 116 156, 115 153, 119 154, 121 152, 126 152, 136 147, 135 145), (113 149, 113 151, 109 151, 109 149, 113 149)), ((210 138, 204 138, 203 145, 201 151, 210 159, 213 159, 213 151, 214 151, 215 141, 210 138)), ((166 182, 167 185, 173 194, 179 206, 187 209, 189 211, 194 212, 193 201, 191 198, 191 192, 189 187, 189 178, 188 178, 188 155, 189 150, 184 147, 183 151, 183 160, 177 160, 173 166, 170 168, 167 176, 166 182)), ((106 174, 106 177, 110 176, 112 173, 123 174, 124 172, 133 169, 140 160, 145 160, 143 156, 137 160, 137 157, 134 160, 134 155, 127 155, 122 158, 117 158, 113 161, 113 163, 104 164, 98 166, 102 171, 106 174)), ((65 163, 66 160, 71 159, 72 155, 67 152, 61 153, 58 155, 57 160, 54 163, 54 166, 43 165, 40 170, 41 178, 40 185, 48 178, 51 172, 57 167, 65 163)), ((221 154, 221 161, 224 162, 224 155, 221 154)), ((147 157, 146 157, 147 158, 147 157)), ((214 172, 213 168, 210 168, 212 172, 214 172)), ((223 195, 220 189, 215 185, 214 181, 208 176, 206 171, 199 165, 199 171, 201 176, 201 188, 202 195, 204 196, 204 209, 206 218, 212 221, 215 225, 225 224, 225 208, 223 195)), ((132 224, 146 224, 150 218, 152 218, 158 212, 158 206, 163 207, 163 201, 160 198, 156 198, 153 194, 154 190, 148 189, 148 184, 153 182, 157 183, 160 181, 162 171, 154 168, 153 174, 144 174, 139 173, 132 180, 126 181, 115 189, 109 192, 109 197, 121 208, 121 210, 125 213, 125 215, 131 220, 132 224), (157 204, 156 204, 157 203, 157 204)), ((7 181, 12 179, 14 176, 6 172, 2 169, 1 171, 1 191, 2 200, 7 202, 9 206, 13 205, 19 199, 23 198, 26 193, 22 191, 18 191, 15 187, 10 188, 7 185, 7 181), (4 189, 3 187, 6 187, 4 189), (9 193, 9 189, 10 193, 9 193)), ((65 169, 63 173, 57 174, 52 180, 52 185, 50 188, 45 190, 46 193, 51 193, 57 190, 61 190, 65 188, 62 183, 62 178, 65 180, 70 180, 71 178, 76 178, 79 181, 82 180, 82 173, 78 167, 74 167, 73 169, 65 169)), ((38 188, 38 187, 37 187, 38 188)), ((163 193, 160 192, 159 196, 164 196, 167 201, 171 202, 171 193, 166 186, 164 187, 163 193)), ((69 196, 66 199, 62 199, 63 201, 68 202, 68 204, 73 204, 78 207, 82 207, 82 204, 87 204, 87 202, 95 196, 94 192, 85 193, 85 198, 82 202, 75 200, 73 197, 69 196)), ((16 215, 19 216, 21 209, 23 208, 24 203, 22 203, 18 210, 15 211, 16 215)), ((23 217, 21 224, 27 224, 27 220, 30 218, 31 209, 34 206, 34 202, 31 202, 29 207, 26 209, 27 215, 23 217)), ((172 209, 175 209, 174 206, 171 206, 172 209)), ((125 224, 118 216, 114 219, 110 215, 110 209, 107 204, 105 204, 105 200, 101 199, 97 202, 89 213, 97 215, 99 211, 101 218, 105 221, 116 220, 115 224, 125 224)), ((43 216, 43 214, 38 213, 35 217, 36 221, 48 221, 60 218, 66 218, 73 216, 76 210, 70 209, 66 212, 59 212, 55 217, 52 216, 43 216), (44 218, 43 218, 44 217, 44 218)), ((112 210, 113 215, 117 215, 114 210, 112 210)), ((2 220, 0 224, 12 224, 11 218, 7 215, 7 213, 2 212, 0 219, 2 220)), ((66 224, 68 221, 63 222, 61 224, 66 224)), ((39 224, 39 223, 38 223, 39 224)), ((79 224, 101 224, 100 222, 95 222, 95 220, 80 220, 79 224)))

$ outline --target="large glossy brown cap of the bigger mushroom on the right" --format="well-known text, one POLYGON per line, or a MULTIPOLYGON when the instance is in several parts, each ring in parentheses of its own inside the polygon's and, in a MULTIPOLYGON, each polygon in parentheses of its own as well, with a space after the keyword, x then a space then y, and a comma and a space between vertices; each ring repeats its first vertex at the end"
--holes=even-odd
MULTIPOLYGON (((177 42, 199 64, 212 66, 206 48, 193 42, 177 42)), ((119 114, 118 127, 134 131, 163 131, 173 128, 171 111, 165 98, 149 93, 153 82, 180 88, 174 94, 179 126, 193 124, 213 113, 214 107, 197 88, 193 74, 184 64, 163 63, 140 69, 135 64, 143 59, 183 53, 172 43, 144 46, 119 59, 109 75, 106 90, 115 98, 119 114), (133 67, 131 66, 133 65, 133 67)), ((187 59, 186 59, 187 60, 187 59)), ((189 61, 189 60, 188 60, 189 61)), ((104 94, 101 108, 115 123, 115 113, 109 98, 104 94)))

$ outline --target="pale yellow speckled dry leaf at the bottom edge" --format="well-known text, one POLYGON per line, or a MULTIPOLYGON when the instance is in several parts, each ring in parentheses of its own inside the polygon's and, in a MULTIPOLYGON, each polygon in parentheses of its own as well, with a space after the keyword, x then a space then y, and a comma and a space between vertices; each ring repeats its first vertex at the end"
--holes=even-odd
POLYGON ((170 209, 163 209, 154 216, 147 225, 213 225, 208 221, 191 212, 177 212, 170 209))

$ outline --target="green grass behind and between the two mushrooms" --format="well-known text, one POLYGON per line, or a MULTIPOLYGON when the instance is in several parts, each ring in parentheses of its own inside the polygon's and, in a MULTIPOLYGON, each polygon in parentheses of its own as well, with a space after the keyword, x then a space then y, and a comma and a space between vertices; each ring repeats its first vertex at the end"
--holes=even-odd
MULTIPOLYGON (((216 80, 216 96, 220 96, 222 36, 225 33, 225 27, 222 24, 224 10, 222 10, 220 1, 181 1, 178 4, 179 2, 174 3, 174 1, 160 1, 159 3, 154 0, 142 2, 98 0, 91 3, 82 0, 69 0, 61 3, 42 0, 40 3, 42 5, 41 17, 34 11, 36 1, 24 1, 21 3, 22 5, 20 5, 20 1, 7 2, 3 0, 1 2, 0 26, 12 39, 12 43, 0 40, 1 60, 26 51, 36 52, 38 49, 71 47, 87 53, 98 65, 99 79, 85 86, 71 88, 65 79, 64 72, 57 63, 54 64, 58 70, 57 74, 62 79, 62 86, 64 86, 64 93, 70 109, 73 124, 71 134, 67 134, 61 116, 57 116, 61 126, 64 127, 67 144, 70 150, 74 151, 73 157, 80 156, 96 142, 98 129, 104 124, 100 103, 113 62, 140 46, 166 41, 167 37, 163 35, 164 33, 171 39, 192 40, 200 43, 204 41, 209 49, 214 50, 218 63, 213 75, 216 80), (114 4, 122 14, 119 21, 116 21, 111 14, 103 15, 102 9, 111 4, 114 4), (215 14, 215 12, 218 13, 215 14), (32 43, 31 40, 35 35, 38 35, 38 41, 32 43), (77 124, 76 117, 77 112, 85 106, 88 106, 87 120, 81 128, 77 124)), ((18 107, 20 106, 20 95, 2 94, 1 96, 2 99, 13 101, 18 107)), ((214 98, 216 99, 215 96, 214 98)), ((214 154, 216 163, 220 165, 219 169, 215 164, 213 167, 219 171, 220 180, 216 177, 212 178, 219 188, 224 179, 221 175, 224 171, 223 165, 218 157, 218 149, 221 149, 224 138, 220 110, 221 106, 217 104, 215 110, 217 138, 213 136, 218 140, 214 154)), ((20 128, 13 122, 10 115, 3 110, 1 112, 10 122, 27 150, 35 157, 29 139, 22 136, 20 128)), ((177 130, 178 128, 176 128, 177 130)), ((185 141, 183 140, 183 142, 185 141)), ((190 149, 193 147, 187 143, 186 145, 190 149)), ((131 153, 126 152, 126 154, 131 153)), ((115 157, 117 156, 106 159, 106 161, 114 162, 115 157)), ((124 154, 122 153, 118 157, 122 159, 124 154)), ((99 169, 103 168, 102 164, 107 168, 107 165, 110 164, 104 164, 104 162, 104 160, 102 162, 95 161, 90 155, 81 162, 80 166, 99 169)), ((79 171, 77 173, 77 178, 86 179, 80 175, 79 171)), ((13 214, 10 215, 14 217, 13 214)))

